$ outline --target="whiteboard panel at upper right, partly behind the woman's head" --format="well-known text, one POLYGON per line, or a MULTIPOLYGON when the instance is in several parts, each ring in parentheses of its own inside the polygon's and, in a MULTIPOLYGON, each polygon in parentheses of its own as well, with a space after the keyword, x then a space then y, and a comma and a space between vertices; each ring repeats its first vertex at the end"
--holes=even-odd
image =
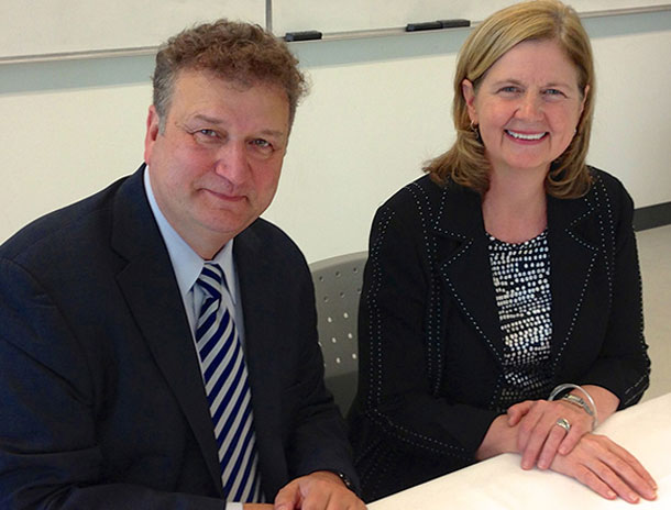
MULTIPOLYGON (((519 0, 518 0, 519 1, 519 0)), ((322 33, 367 31, 408 23, 464 18, 484 20, 515 0, 273 0, 273 32, 317 30, 322 33)), ((579 13, 659 7, 669 0, 569 0, 579 13)))

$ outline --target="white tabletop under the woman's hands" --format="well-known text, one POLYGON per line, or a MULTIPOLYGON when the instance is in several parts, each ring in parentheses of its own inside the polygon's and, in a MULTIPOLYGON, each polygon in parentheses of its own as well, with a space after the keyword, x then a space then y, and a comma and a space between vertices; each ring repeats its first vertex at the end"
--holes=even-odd
POLYGON ((370 510, 671 509, 671 393, 612 415, 596 431, 627 448, 657 481, 658 499, 636 507, 609 501, 579 481, 519 467, 505 454, 369 505, 370 510))

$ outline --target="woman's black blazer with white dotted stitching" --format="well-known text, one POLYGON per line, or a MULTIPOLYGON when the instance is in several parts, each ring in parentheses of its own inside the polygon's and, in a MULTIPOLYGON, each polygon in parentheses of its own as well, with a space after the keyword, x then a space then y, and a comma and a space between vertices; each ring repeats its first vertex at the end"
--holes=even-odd
MULTIPOLYGON (((591 191, 548 198, 552 386, 594 384, 620 408, 648 386, 632 203, 592 170, 591 191)), ((477 193, 425 176, 375 217, 351 414, 365 500, 474 462, 503 377, 504 340, 477 193)), ((548 398, 529 395, 528 398, 548 398)))

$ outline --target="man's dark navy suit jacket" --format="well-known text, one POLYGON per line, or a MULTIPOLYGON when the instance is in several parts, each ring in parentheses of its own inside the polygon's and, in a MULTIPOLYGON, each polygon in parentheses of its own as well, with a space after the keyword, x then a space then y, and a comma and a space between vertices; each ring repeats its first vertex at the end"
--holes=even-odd
MULTIPOLYGON (((222 508, 197 353, 143 168, 0 247, 1 508, 222 508)), ((257 220, 233 256, 266 498, 317 469, 355 480, 302 255, 257 220)))

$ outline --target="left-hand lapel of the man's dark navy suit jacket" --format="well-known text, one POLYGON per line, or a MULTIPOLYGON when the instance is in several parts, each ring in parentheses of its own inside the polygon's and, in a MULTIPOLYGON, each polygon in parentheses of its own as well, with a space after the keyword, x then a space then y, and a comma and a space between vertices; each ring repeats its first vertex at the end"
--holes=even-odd
POLYGON ((217 443, 200 367, 169 255, 146 200, 143 170, 144 165, 123 184, 114 203, 111 244, 128 260, 117 280, 221 492, 217 443))

